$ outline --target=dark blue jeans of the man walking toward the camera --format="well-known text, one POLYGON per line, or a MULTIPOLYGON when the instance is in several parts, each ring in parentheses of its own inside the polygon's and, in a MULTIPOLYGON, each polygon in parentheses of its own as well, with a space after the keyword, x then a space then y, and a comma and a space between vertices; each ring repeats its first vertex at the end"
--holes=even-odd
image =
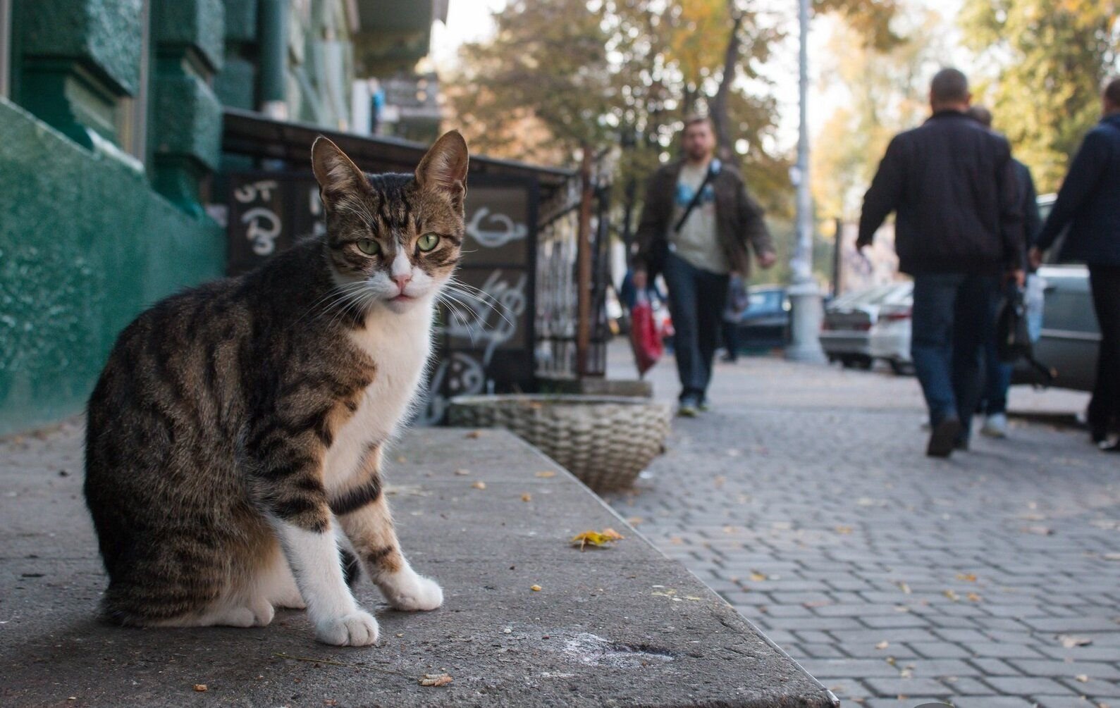
POLYGON ((703 401, 719 346, 729 277, 697 268, 675 253, 665 258, 662 276, 669 286, 681 400, 703 401))

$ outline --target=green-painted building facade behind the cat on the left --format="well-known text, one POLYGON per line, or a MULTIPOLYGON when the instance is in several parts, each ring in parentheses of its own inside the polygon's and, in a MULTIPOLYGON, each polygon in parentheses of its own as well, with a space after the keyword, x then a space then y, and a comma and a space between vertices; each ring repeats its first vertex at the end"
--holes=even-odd
POLYGON ((224 272, 207 211, 237 167, 224 108, 347 130, 355 77, 414 64, 441 16, 442 0, 0 0, 0 434, 78 412, 132 317, 224 272))

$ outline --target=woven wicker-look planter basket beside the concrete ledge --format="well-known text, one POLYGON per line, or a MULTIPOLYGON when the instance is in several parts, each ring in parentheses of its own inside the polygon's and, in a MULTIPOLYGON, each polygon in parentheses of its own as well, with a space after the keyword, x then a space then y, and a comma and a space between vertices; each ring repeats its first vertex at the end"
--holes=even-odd
POLYGON ((648 399, 601 395, 460 395, 448 421, 508 428, 603 492, 629 486, 663 449, 670 410, 648 399))

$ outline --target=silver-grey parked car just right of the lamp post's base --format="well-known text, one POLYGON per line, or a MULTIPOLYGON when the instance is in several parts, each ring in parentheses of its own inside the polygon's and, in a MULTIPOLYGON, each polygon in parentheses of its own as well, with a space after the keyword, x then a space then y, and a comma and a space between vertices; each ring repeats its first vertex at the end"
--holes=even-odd
POLYGON ((821 348, 829 361, 870 369, 874 363, 871 327, 878 322, 879 308, 894 304, 902 290, 912 287, 906 282, 876 286, 847 292, 829 302, 820 333, 821 348))

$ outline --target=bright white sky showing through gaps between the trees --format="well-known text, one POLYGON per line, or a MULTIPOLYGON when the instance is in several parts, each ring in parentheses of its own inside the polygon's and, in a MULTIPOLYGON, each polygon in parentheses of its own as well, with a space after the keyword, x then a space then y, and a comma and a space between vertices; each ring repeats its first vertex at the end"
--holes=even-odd
MULTIPOLYGON (((757 1, 757 0, 756 0, 757 1)), ((952 18, 960 10, 962 0, 908 0, 912 7, 928 7, 946 18, 946 31, 955 31, 952 18)), ((431 59, 437 69, 454 66, 459 46, 485 39, 494 31, 492 13, 505 7, 506 0, 450 0, 447 25, 437 22, 432 28, 431 59)), ((766 75, 774 81, 774 95, 778 102, 780 122, 777 142, 780 149, 792 149, 797 141, 797 27, 794 0, 763 0, 768 10, 783 11, 788 8, 785 30, 788 39, 775 52, 765 67, 766 75)), ((836 90, 827 90, 819 81, 820 67, 827 60, 827 47, 832 18, 818 17, 810 29, 809 62, 809 129, 815 134, 832 113, 830 105, 843 101, 844 95, 836 90)))

